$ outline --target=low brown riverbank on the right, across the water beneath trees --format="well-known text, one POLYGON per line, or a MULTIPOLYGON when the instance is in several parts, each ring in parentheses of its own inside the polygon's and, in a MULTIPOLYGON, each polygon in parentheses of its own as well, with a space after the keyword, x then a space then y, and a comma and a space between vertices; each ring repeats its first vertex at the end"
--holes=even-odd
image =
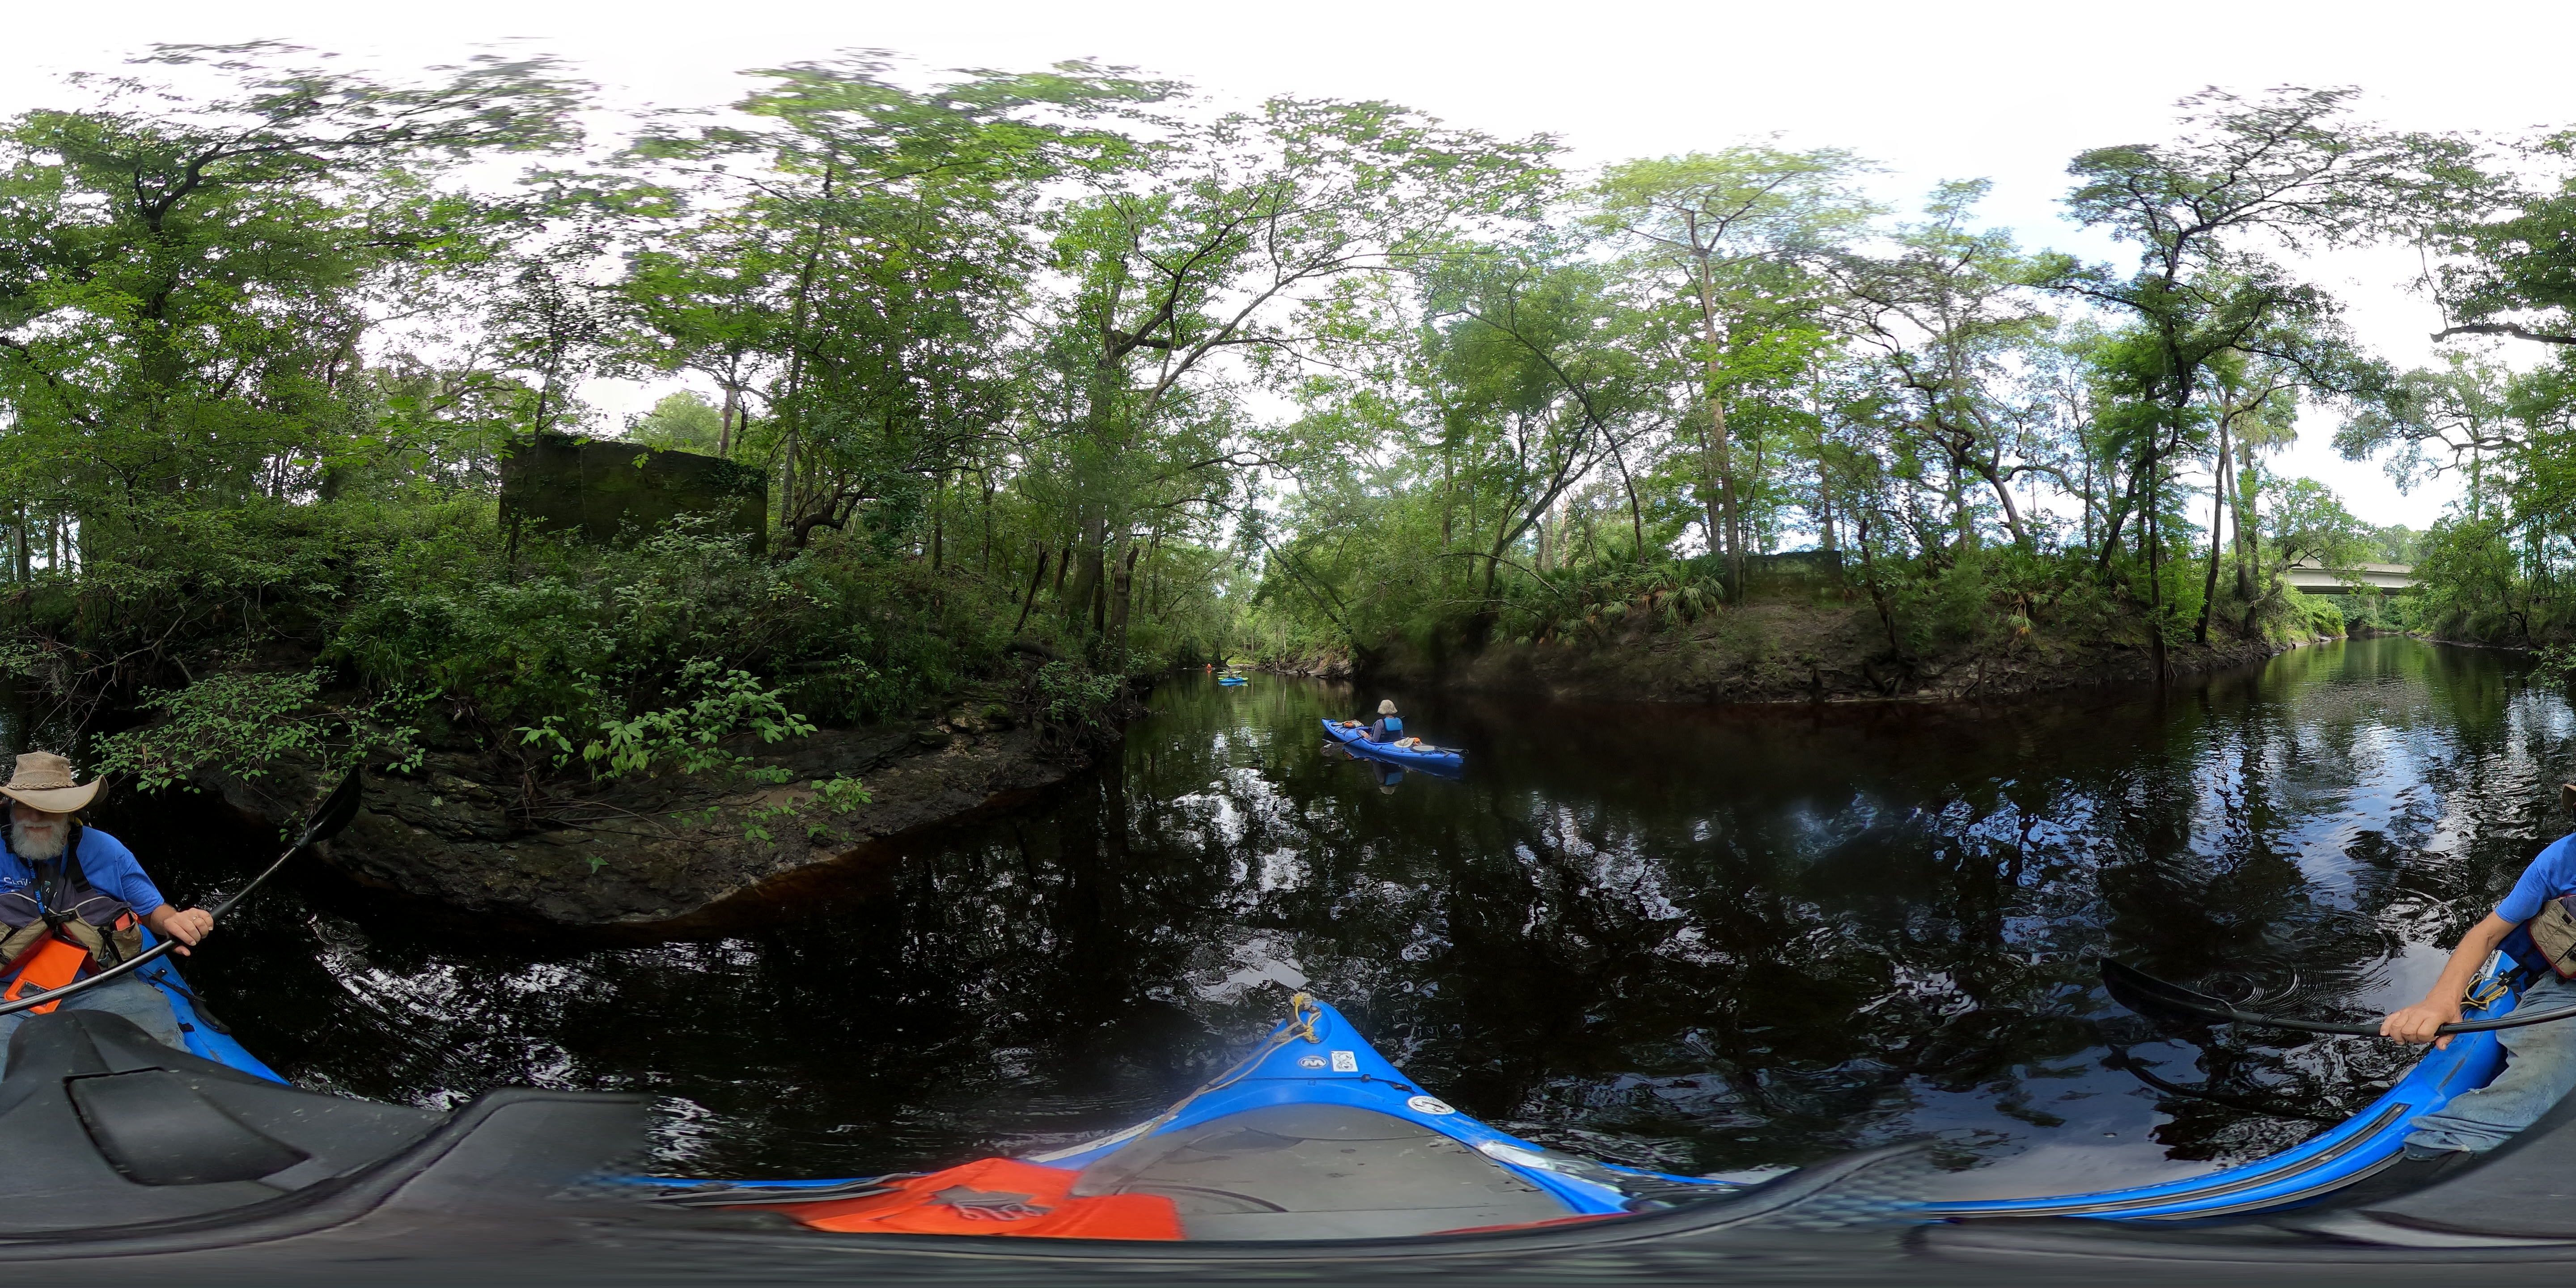
MULTIPOLYGON (((2336 636, 2169 644, 2164 672, 2197 675, 2336 636)), ((1607 641, 1512 641, 1435 659, 1388 649, 1370 680, 1553 701, 1816 703, 1968 701, 2058 688, 2154 683, 2156 654, 2138 631, 1996 631, 1947 649, 1899 652, 1868 603, 1749 603, 1685 629, 1625 631, 1607 641)))

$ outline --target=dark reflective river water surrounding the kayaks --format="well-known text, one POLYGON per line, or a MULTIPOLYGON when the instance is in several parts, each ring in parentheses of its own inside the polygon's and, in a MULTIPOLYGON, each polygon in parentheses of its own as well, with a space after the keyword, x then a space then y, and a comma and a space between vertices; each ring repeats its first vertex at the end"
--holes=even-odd
MULTIPOLYGON (((2563 688, 2411 639, 1984 708, 1396 693, 1463 781, 1321 747, 1378 698, 1177 677, 1115 765, 721 940, 471 935, 304 871, 188 971, 312 1087, 662 1095, 683 1175, 1126 1126, 1311 989, 1564 1149, 1731 1172, 1935 1133, 2045 1193, 2280 1149, 2406 1059, 2166 1041, 2092 956, 2303 1015, 2411 999, 2576 778, 2563 688)), ((255 853, 180 819, 103 824, 175 899, 237 884, 255 853)))

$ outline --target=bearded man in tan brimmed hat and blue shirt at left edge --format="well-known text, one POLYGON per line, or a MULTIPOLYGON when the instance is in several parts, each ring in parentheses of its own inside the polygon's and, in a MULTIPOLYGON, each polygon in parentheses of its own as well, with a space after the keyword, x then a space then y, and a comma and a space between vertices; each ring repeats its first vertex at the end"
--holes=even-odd
MULTIPOLYGON (((0 786, 10 809, 8 845, 0 853, 0 997, 15 999, 131 958, 142 951, 139 925, 178 943, 204 940, 214 930, 206 909, 170 907, 134 850, 75 819, 98 799, 98 786, 95 778, 80 783, 72 762, 54 752, 21 755, 15 773, 0 786)), ((54 1005, 108 1010, 134 1020, 155 1041, 180 1046, 170 1002, 131 974, 54 1005)), ((28 1015, 0 1015, 0 1072, 8 1069, 8 1038, 28 1015)))

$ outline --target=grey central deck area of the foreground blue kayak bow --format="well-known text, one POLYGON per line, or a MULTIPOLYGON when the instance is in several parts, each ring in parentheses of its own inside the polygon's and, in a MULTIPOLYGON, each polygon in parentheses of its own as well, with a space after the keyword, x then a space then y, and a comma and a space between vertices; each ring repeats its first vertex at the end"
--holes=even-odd
POLYGON ((1185 1239, 1381 1239, 1571 1216, 1494 1159, 1350 1105, 1265 1105, 1133 1141, 1074 1195, 1162 1195, 1185 1239))

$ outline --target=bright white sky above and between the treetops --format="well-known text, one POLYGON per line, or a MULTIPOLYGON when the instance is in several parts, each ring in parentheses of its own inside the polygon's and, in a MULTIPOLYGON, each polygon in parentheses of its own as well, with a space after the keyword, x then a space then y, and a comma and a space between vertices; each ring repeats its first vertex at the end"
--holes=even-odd
MULTIPOLYGON (((5 5, 0 111, 57 95, 54 75, 108 70, 147 41, 291 39, 371 64, 453 59, 518 39, 569 57, 618 98, 714 106, 742 67, 894 49, 933 67, 1036 67, 1097 57, 1229 98, 1391 98, 1461 126, 1553 131, 1579 162, 1723 147, 1852 147, 1888 165, 1906 201, 1940 178, 1994 178, 1989 219, 2027 245, 2110 255, 2056 216, 2063 165, 2087 147, 2172 131, 2202 85, 2362 85, 2367 113, 2406 129, 2517 134, 2576 121, 2566 59, 2576 5, 2476 8, 2383 0, 2107 5, 2081 0, 1795 3, 1149 3, 989 0, 750 5, 448 0, 124 0, 5 5)), ((2316 265, 2362 337, 2424 361, 2439 327, 2403 291, 2409 252, 2316 265)), ((636 410, 647 392, 600 397, 636 410)), ((2427 526, 2447 484, 2401 497, 2375 466, 2334 459, 2311 425, 2280 466, 2336 487, 2372 523, 2427 526)))

